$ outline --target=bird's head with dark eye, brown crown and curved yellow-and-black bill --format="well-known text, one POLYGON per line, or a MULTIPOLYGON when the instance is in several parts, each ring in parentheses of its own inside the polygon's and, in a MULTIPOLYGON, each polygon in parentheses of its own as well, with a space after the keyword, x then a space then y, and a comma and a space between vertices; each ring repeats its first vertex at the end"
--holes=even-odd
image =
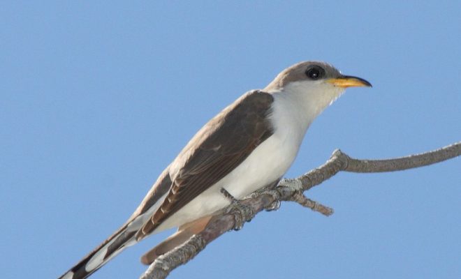
POLYGON ((309 110, 318 115, 346 88, 354 86, 372 84, 360 77, 343 75, 328 63, 305 61, 283 70, 264 91, 293 96, 294 100, 305 103, 309 110))

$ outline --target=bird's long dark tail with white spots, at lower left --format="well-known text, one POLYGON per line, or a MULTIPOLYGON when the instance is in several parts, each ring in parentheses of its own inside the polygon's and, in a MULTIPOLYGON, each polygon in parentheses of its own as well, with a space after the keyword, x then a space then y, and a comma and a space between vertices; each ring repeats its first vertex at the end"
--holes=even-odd
POLYGON ((112 234, 101 245, 90 252, 78 264, 69 269, 59 279, 84 279, 109 262, 124 248, 136 243, 136 230, 127 229, 128 224, 112 234))

